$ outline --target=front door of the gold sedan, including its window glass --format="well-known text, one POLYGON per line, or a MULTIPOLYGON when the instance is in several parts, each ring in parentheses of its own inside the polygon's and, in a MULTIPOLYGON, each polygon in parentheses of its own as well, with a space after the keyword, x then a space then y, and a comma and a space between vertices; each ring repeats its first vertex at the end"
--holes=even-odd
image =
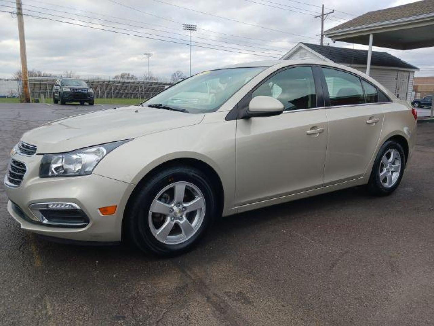
POLYGON ((247 100, 259 95, 281 101, 285 111, 237 120, 237 206, 322 186, 328 127, 312 67, 274 73, 247 100))

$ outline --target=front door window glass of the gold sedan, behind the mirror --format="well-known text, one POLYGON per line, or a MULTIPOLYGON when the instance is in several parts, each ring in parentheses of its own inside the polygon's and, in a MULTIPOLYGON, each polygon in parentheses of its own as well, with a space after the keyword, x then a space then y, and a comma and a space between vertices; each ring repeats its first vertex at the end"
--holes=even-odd
POLYGON ((276 73, 263 82, 252 96, 271 96, 285 111, 316 107, 315 82, 311 67, 294 67, 276 73))

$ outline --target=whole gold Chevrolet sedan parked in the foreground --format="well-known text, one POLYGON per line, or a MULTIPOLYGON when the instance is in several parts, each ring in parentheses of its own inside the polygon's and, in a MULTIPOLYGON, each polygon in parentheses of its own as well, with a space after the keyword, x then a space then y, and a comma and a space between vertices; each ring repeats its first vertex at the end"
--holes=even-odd
POLYGON ((352 186, 399 185, 417 113, 372 78, 315 61, 198 73, 138 106, 22 136, 4 179, 21 228, 171 255, 228 216, 352 186))

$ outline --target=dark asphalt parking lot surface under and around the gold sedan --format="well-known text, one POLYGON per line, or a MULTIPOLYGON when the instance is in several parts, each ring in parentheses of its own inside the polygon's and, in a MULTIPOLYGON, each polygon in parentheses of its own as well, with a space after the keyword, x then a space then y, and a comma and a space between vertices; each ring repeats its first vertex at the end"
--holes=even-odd
MULTIPOLYGON (((1 175, 26 130, 103 108, 0 104, 1 175)), ((358 187, 230 216, 171 259, 51 243, 6 205, 0 186, 1 325, 434 324, 434 123, 393 195, 358 187)))

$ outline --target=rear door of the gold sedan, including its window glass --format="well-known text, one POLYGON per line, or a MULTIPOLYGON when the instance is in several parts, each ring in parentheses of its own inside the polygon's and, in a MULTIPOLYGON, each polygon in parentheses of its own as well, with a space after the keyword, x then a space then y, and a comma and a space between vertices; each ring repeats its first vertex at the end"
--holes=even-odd
POLYGON ((323 67, 329 121, 324 186, 365 174, 384 120, 378 90, 355 74, 323 67))

